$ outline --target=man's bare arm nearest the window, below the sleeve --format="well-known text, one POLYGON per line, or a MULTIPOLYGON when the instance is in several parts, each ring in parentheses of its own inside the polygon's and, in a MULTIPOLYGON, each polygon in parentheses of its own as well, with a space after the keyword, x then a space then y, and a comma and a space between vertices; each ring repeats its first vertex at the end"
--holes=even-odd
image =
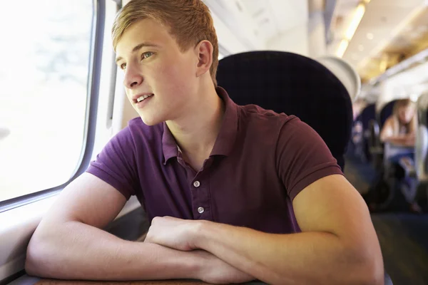
POLYGON ((248 274, 203 251, 180 252, 148 242, 129 242, 103 231, 126 199, 89 173, 58 197, 29 243, 26 271, 55 279, 204 279, 243 282, 248 274))

